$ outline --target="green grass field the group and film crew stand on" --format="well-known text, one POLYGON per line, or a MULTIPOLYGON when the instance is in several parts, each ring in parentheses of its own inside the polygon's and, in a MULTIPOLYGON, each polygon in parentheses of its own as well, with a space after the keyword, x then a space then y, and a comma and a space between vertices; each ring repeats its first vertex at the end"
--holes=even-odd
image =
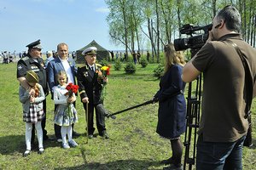
MULTIPOLYGON (((159 88, 159 80, 153 77, 156 64, 146 68, 137 65, 135 75, 125 75, 111 70, 105 98, 108 111, 120 111, 152 99, 159 88)), ((75 130, 83 135, 75 140, 79 147, 64 150, 55 141, 44 142, 45 152, 38 150, 22 157, 26 150, 25 122, 18 98, 19 83, 16 80, 16 64, 0 65, 0 169, 162 169, 162 159, 172 155, 170 143, 155 133, 158 104, 146 105, 107 119, 110 139, 99 137, 86 144, 84 109, 77 101, 79 122, 75 130)), ((47 125, 49 136, 54 138, 54 104, 47 97, 47 125)), ((244 148, 244 169, 256 169, 256 104, 253 101, 253 148, 244 148)), ((218 128, 218 127, 216 127, 218 128)), ((183 150, 184 151, 184 150, 183 150)))

